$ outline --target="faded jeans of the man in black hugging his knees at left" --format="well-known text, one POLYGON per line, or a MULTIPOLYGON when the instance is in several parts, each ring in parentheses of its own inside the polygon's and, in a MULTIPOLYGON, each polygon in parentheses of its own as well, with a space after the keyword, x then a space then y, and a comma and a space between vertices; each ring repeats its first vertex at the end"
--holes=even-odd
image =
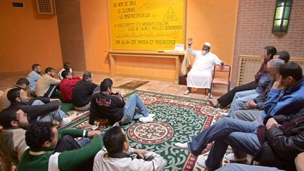
MULTIPOLYGON (((34 105, 44 105, 44 103, 40 100, 36 100, 32 103, 32 106, 34 105)), ((57 120, 58 122, 60 122, 61 120, 63 120, 65 116, 65 113, 63 112, 63 110, 54 110, 51 113, 46 113, 45 115, 40 115, 37 118, 38 122, 52 122, 53 120, 57 120)))

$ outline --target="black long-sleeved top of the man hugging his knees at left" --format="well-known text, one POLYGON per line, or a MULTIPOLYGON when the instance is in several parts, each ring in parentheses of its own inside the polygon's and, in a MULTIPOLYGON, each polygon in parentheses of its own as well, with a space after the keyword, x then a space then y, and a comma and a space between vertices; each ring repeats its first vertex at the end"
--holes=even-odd
POLYGON ((39 97, 39 98, 32 98, 27 103, 13 102, 11 103, 11 106, 9 106, 9 108, 18 108, 23 110, 24 113, 27 113, 27 120, 29 120, 29 122, 36 122, 38 116, 51 113, 54 110, 58 110, 60 106, 61 106, 60 101, 50 101, 49 98, 39 97), (32 103, 35 100, 40 100, 45 104, 32 106, 32 103))

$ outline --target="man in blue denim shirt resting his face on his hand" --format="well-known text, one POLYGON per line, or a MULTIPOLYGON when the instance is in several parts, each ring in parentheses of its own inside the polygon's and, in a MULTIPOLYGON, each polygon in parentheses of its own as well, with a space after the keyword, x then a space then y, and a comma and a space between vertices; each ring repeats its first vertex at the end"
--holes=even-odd
POLYGON ((279 79, 274 82, 265 101, 264 110, 238 110, 232 118, 258 121, 267 116, 298 113, 304 103, 304 78, 300 65, 289 62, 280 66, 279 79))

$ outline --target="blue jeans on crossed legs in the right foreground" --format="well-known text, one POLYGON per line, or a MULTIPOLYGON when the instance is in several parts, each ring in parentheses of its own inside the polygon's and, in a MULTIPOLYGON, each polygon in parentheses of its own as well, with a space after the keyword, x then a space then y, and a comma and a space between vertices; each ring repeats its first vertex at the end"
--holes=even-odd
POLYGON ((256 135, 258 127, 257 122, 223 118, 189 141, 188 147, 194 156, 198 156, 210 142, 214 141, 205 165, 209 170, 216 170, 221 166, 228 146, 252 156, 258 151, 260 148, 256 135))

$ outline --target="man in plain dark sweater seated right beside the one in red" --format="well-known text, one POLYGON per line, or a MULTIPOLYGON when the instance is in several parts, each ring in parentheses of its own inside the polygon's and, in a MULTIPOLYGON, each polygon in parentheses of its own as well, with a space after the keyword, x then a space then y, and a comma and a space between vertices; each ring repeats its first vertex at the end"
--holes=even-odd
POLYGON ((72 104, 76 110, 89 110, 91 95, 96 87, 97 85, 93 83, 91 72, 84 72, 82 80, 77 82, 72 90, 72 104))

